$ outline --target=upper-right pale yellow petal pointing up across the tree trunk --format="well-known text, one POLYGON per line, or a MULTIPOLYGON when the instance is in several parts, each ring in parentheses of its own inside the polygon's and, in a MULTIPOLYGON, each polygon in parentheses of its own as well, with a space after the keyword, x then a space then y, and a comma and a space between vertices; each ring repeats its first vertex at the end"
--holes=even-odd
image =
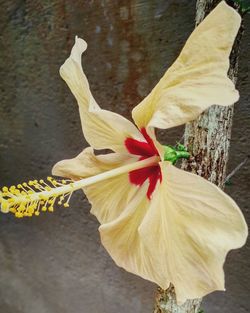
POLYGON ((169 128, 195 119, 213 104, 231 105, 238 91, 227 77, 240 15, 222 1, 193 31, 180 56, 134 108, 139 127, 169 128))

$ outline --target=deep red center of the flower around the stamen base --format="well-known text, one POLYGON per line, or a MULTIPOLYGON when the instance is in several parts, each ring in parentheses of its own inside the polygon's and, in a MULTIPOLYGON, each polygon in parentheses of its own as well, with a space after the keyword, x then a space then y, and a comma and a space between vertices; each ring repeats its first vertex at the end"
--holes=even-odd
MULTIPOLYGON (((146 129, 142 128, 141 133, 146 141, 139 141, 133 138, 127 138, 125 140, 125 146, 129 153, 140 156, 139 160, 144 160, 154 155, 158 156, 159 153, 152 138, 147 134, 146 129)), ((160 166, 157 164, 129 172, 130 182, 137 186, 141 186, 147 179, 149 179, 147 197, 150 200, 157 181, 162 181, 160 166)))

